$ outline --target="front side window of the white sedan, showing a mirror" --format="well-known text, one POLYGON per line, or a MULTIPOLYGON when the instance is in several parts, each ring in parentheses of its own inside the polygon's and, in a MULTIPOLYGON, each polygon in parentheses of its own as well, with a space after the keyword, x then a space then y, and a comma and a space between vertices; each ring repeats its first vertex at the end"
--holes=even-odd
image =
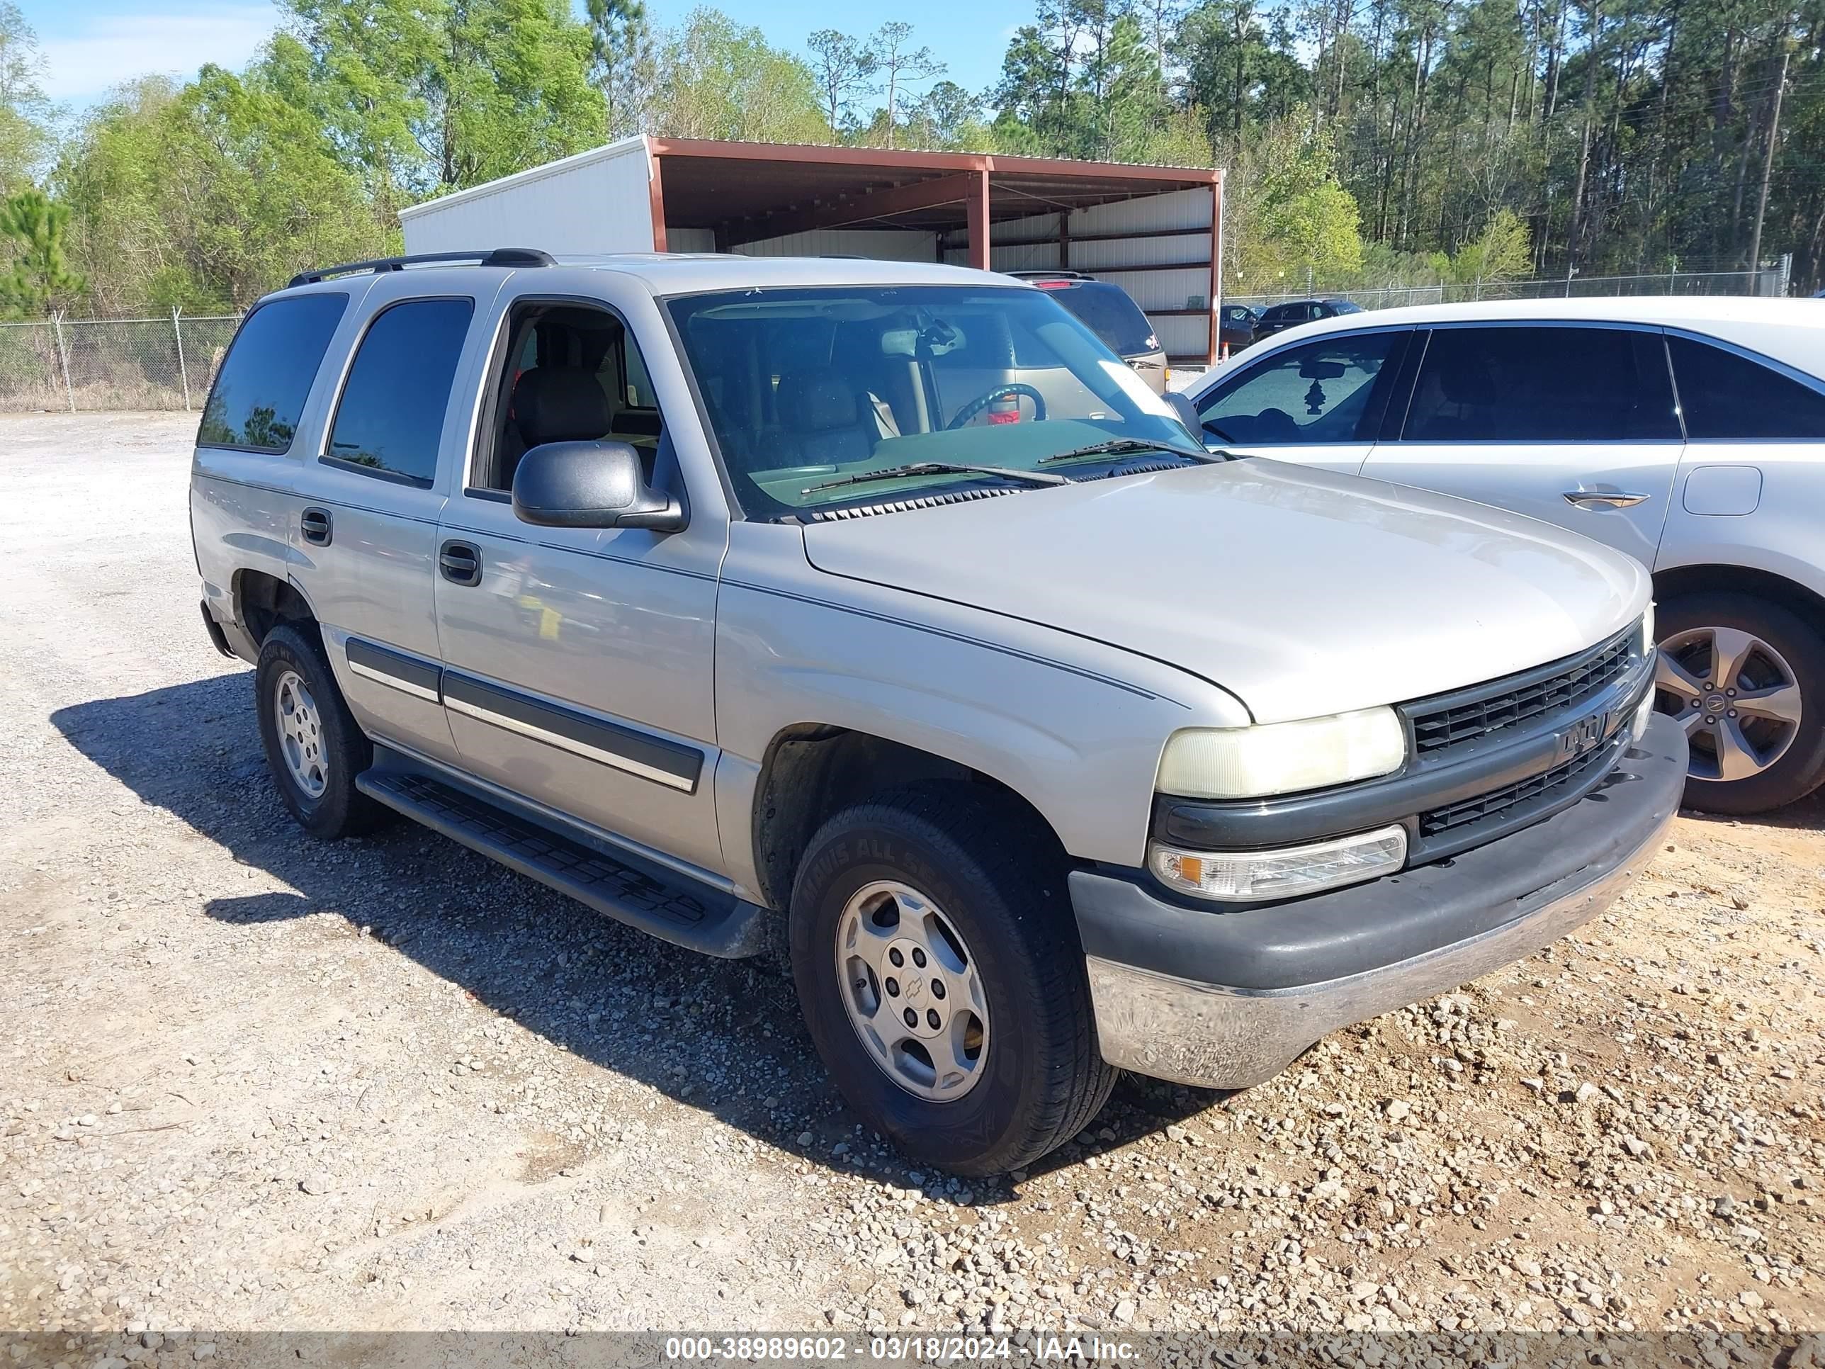
POLYGON ((1361 332, 1292 347, 1217 385, 1197 416, 1212 438, 1237 445, 1354 442, 1402 336, 1361 332))

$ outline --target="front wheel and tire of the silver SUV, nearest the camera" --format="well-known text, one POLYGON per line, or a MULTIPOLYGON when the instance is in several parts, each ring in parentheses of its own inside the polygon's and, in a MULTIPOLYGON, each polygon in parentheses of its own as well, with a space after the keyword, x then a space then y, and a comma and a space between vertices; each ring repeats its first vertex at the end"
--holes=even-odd
MULTIPOLYGON (((1069 1141, 1108 1101, 1117 1071, 1097 1050, 1084 953, 1064 887, 1064 852, 1007 799, 967 783, 934 781, 838 812, 805 851, 790 913, 792 977, 812 1042, 849 1104, 909 1159, 953 1174, 1004 1174, 1069 1141), (907 893, 883 894, 881 885, 907 893), (845 925, 858 938, 903 933, 902 944, 905 936, 916 942, 920 918, 907 913, 920 900, 954 935, 954 942, 944 935, 929 938, 933 956, 944 960, 936 971, 944 973, 902 986, 874 975, 872 991, 860 986, 871 975, 856 956, 847 960, 850 973, 840 973, 845 925), (867 907, 878 911, 856 911, 867 907), (845 920, 850 911, 856 916, 845 920), (863 916, 871 931, 860 931, 863 916), (892 933, 881 931, 894 918, 892 933), (958 962, 965 966, 960 977, 949 973, 958 962), (969 1040, 967 1019, 975 1011, 965 1002, 971 989, 949 989, 947 1002, 940 1002, 945 997, 940 989, 944 982, 965 980, 980 989, 986 1015, 976 1019, 978 1055, 973 1064, 945 1064, 947 1077, 969 1082, 953 1084, 951 1095, 940 1097, 938 1071, 933 1068, 927 1084, 925 1064, 953 1055, 964 1061, 967 1044, 962 1053, 940 1051, 969 1040), (905 998, 889 998, 892 988, 905 998), (933 1042, 925 1062, 916 1059, 920 1048, 909 1044, 896 1075, 878 1048, 865 1042, 850 1002, 871 993, 889 1015, 874 1020, 891 1022, 892 1031, 900 1029, 892 1013, 903 1013, 914 993, 923 995, 916 1000, 920 1011, 947 1013, 945 1035, 933 1042), (927 1095, 914 1088, 927 1088, 927 1095)), ((923 922, 931 925, 929 918, 923 922)), ((892 978, 887 964, 892 942, 860 949, 878 951, 881 971, 892 978)), ((903 964, 903 973, 914 975, 912 962, 903 964)), ((927 1020, 936 1026, 936 1019, 927 1020)), ((887 1029, 881 1026, 876 1039, 887 1029)))

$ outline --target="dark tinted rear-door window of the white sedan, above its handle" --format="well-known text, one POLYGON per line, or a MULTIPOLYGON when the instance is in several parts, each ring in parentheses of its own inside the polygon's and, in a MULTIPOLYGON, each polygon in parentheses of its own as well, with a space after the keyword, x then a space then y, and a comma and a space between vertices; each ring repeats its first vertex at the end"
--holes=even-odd
POLYGON ((1409 442, 1677 438, 1666 350, 1628 329, 1434 329, 1409 442))

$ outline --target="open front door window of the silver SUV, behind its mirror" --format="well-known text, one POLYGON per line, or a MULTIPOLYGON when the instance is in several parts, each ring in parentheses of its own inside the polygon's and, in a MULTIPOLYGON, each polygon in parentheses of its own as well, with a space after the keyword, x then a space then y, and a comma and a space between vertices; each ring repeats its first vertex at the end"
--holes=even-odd
POLYGON ((507 318, 471 491, 509 491, 531 447, 626 442, 655 480, 664 422, 646 361, 617 314, 591 305, 526 301, 507 318))

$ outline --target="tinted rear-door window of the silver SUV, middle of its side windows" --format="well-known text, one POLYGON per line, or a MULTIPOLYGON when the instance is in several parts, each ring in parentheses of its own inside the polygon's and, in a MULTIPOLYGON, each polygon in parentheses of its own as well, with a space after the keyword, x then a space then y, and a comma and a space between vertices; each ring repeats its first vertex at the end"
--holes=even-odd
POLYGON ((414 299, 381 312, 349 367, 325 460, 429 486, 473 312, 469 299, 414 299))

